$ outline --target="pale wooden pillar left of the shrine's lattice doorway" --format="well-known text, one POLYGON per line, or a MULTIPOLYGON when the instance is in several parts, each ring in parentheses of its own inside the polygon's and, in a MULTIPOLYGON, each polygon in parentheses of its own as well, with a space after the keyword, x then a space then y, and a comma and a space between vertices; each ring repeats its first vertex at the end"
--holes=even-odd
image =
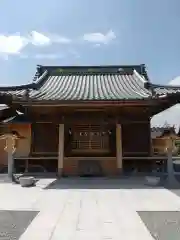
POLYGON ((58 175, 63 172, 64 161, 64 124, 59 124, 58 175))

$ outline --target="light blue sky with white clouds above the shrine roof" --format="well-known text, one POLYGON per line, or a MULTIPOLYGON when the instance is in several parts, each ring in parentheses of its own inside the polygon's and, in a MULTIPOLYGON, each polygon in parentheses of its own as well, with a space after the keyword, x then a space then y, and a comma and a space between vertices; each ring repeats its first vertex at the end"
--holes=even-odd
POLYGON ((36 65, 146 64, 180 85, 179 0, 1 0, 0 85, 32 81, 36 65))

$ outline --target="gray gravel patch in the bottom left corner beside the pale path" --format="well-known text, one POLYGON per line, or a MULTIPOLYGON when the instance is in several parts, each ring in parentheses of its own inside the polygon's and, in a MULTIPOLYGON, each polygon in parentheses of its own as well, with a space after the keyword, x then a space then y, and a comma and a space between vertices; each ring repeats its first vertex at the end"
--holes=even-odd
POLYGON ((38 212, 0 211, 0 240, 18 240, 38 212))

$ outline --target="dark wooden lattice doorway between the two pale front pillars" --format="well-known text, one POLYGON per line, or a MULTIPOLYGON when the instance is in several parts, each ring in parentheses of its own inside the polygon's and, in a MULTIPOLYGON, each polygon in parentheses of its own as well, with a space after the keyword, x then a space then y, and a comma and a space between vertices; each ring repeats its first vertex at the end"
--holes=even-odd
POLYGON ((79 124, 69 128, 71 156, 109 156, 115 134, 111 125, 79 124))

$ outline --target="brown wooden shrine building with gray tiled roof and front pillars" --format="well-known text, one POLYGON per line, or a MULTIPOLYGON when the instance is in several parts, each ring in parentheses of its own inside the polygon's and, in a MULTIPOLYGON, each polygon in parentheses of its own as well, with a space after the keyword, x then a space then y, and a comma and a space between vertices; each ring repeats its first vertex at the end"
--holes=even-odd
POLYGON ((24 109, 6 123, 24 136, 16 164, 42 165, 59 176, 118 175, 133 166, 148 171, 151 117, 180 99, 180 87, 152 83, 143 64, 38 65, 32 83, 0 93, 24 109))

